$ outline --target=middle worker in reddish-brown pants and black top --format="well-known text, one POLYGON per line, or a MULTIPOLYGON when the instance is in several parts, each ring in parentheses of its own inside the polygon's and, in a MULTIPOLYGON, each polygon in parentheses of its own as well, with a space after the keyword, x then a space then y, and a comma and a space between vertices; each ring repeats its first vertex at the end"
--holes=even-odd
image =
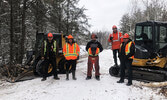
POLYGON ((97 36, 95 34, 91 35, 91 41, 89 41, 86 45, 86 51, 88 52, 88 68, 87 68, 87 77, 86 80, 91 79, 92 77, 92 69, 93 64, 95 65, 95 77, 97 80, 100 80, 100 73, 99 73, 99 53, 103 51, 103 47, 98 42, 97 36))

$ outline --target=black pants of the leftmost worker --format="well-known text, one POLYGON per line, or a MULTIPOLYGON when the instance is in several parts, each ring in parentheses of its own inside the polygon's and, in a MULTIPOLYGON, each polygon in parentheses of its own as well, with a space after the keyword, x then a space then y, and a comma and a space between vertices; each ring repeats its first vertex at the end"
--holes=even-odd
POLYGON ((43 68, 43 77, 47 77, 48 75, 48 67, 49 67, 49 64, 52 65, 53 67, 53 75, 54 77, 57 77, 57 67, 56 67, 56 58, 49 58, 49 59, 45 59, 44 60, 44 68, 43 68))

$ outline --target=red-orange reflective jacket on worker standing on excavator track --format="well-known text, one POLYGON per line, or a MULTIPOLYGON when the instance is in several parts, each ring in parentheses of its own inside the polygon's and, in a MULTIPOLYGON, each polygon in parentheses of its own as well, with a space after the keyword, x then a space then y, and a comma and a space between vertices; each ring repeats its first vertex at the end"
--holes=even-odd
POLYGON ((120 44, 123 42, 122 33, 117 32, 117 33, 110 34, 110 36, 108 38, 108 42, 112 43, 112 48, 111 48, 112 50, 119 49, 120 44), (113 39, 110 40, 110 37, 113 37, 113 39))

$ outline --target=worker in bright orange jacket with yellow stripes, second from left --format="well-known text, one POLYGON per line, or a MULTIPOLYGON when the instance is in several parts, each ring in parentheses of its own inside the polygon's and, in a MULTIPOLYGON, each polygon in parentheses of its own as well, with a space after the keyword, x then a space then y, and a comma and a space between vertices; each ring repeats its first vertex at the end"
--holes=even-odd
POLYGON ((77 43, 75 43, 74 38, 72 35, 67 37, 68 41, 63 47, 63 54, 67 61, 66 63, 66 80, 69 80, 69 70, 70 66, 72 65, 72 78, 76 80, 75 77, 75 70, 76 70, 76 62, 77 58, 79 58, 80 48, 77 43))

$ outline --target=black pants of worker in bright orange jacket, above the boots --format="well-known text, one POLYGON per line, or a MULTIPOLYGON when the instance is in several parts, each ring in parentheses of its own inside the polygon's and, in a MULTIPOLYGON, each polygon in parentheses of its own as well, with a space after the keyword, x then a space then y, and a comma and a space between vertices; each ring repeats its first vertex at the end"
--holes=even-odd
POLYGON ((76 63, 77 63, 77 60, 67 60, 66 71, 69 71, 70 69, 72 71, 75 71, 76 70, 76 63))

